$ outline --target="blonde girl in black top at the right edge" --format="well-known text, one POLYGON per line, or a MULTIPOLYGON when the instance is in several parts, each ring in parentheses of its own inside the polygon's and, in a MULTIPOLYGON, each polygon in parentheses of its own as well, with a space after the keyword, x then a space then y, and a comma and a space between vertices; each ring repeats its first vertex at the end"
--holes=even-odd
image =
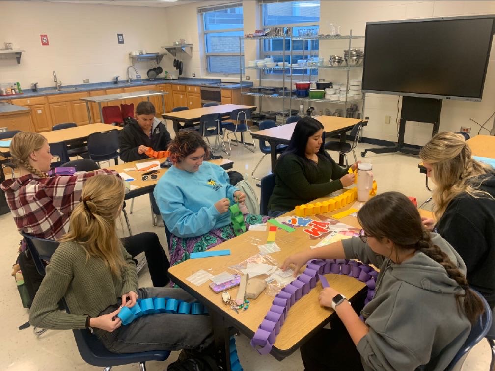
POLYGON ((476 161, 471 148, 458 134, 434 136, 419 156, 436 185, 432 219, 436 228, 464 260, 469 284, 495 307, 495 174, 476 161))

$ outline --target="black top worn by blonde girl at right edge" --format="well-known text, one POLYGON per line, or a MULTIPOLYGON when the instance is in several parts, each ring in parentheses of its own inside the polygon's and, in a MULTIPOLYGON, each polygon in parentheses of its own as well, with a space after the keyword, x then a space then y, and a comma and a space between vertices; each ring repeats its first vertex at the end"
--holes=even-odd
MULTIPOLYGON (((480 189, 495 197, 495 175, 482 179, 480 189)), ((495 200, 461 194, 436 227, 466 263, 469 284, 495 307, 495 200)))

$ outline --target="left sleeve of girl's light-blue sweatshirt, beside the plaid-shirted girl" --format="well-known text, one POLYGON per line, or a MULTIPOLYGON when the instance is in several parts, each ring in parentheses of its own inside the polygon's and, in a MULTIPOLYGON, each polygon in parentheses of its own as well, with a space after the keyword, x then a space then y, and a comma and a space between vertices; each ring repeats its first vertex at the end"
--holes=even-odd
POLYGON ((163 222, 170 232, 179 237, 195 237, 209 232, 220 216, 215 205, 201 207, 197 213, 186 208, 180 187, 166 182, 163 177, 158 181, 153 195, 163 222))

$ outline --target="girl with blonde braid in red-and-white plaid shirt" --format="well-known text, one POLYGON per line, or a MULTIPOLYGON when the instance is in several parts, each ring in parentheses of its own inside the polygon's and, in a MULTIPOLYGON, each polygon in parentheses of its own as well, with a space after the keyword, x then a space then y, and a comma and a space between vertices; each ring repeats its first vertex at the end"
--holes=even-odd
MULTIPOLYGON (((119 177, 116 171, 107 169, 77 176, 48 177, 53 156, 47 139, 37 133, 17 133, 10 143, 10 154, 19 169, 19 178, 7 179, 1 189, 18 230, 40 238, 57 240, 68 232, 69 217, 80 201, 86 181, 99 174, 119 177)), ((170 263, 156 233, 124 237, 122 243, 132 256, 145 252, 153 285, 164 286, 169 282, 166 272, 170 263)), ((33 271, 26 278, 24 258, 31 257, 22 257, 20 265, 30 296, 34 298, 43 277, 33 271)))

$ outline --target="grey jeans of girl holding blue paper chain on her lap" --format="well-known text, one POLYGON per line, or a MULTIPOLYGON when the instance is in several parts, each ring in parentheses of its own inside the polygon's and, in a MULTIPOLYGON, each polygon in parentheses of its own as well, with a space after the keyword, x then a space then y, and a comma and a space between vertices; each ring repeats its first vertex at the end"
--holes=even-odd
MULTIPOLYGON (((169 297, 192 303, 196 301, 180 288, 146 287, 138 289, 140 299, 169 297)), ((115 311, 121 300, 100 315, 115 311)), ((139 317, 129 325, 108 332, 93 329, 106 349, 113 353, 137 353, 151 350, 205 350, 213 343, 211 318, 207 315, 158 313, 139 317)))

